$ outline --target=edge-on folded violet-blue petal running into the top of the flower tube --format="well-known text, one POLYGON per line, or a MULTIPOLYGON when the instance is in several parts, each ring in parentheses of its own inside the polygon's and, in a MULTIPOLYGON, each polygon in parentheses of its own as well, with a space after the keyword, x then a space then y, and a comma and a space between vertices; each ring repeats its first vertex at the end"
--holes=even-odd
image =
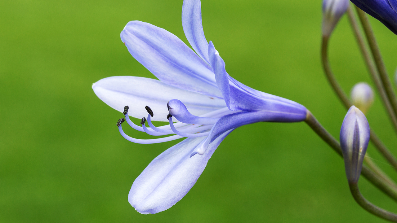
POLYGON ((294 101, 272 94, 254 90, 230 77, 225 70, 225 62, 210 41, 208 54, 214 70, 216 83, 230 110, 252 111, 265 110, 273 112, 299 113, 306 115, 306 108, 294 101))

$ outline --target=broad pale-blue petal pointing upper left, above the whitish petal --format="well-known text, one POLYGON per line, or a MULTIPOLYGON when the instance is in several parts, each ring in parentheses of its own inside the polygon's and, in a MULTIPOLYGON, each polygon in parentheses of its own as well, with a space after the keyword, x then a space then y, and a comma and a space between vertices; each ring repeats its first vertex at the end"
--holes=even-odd
POLYGON ((131 55, 160 81, 222 98, 210 66, 172 33, 149 23, 130 21, 120 37, 131 55))

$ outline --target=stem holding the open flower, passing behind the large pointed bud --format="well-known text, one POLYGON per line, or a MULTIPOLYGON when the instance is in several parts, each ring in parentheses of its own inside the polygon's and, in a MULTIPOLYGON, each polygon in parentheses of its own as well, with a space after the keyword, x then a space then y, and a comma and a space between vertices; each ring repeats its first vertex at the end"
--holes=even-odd
MULTIPOLYGON (((313 129, 315 133, 317 133, 318 136, 320 136, 320 138, 322 138, 328 145, 331 146, 333 150, 335 150, 335 152, 337 152, 337 154, 339 154, 339 156, 343 158, 342 149, 339 142, 333 138, 333 136, 328 133, 326 129, 324 129, 324 127, 317 121, 316 117, 314 117, 309 110, 307 110, 305 122, 310 126, 310 128, 313 129)), ((373 185, 378 187, 393 200, 397 201, 397 191, 388 185, 387 182, 382 179, 382 177, 377 175, 374 171, 366 166, 362 167, 361 174, 373 185)))

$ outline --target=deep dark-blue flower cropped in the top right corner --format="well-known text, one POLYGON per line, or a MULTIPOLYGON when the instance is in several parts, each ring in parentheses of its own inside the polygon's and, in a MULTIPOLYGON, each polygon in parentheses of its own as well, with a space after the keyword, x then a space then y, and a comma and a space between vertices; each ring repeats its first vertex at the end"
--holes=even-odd
POLYGON ((397 0, 351 0, 397 35, 397 0))

